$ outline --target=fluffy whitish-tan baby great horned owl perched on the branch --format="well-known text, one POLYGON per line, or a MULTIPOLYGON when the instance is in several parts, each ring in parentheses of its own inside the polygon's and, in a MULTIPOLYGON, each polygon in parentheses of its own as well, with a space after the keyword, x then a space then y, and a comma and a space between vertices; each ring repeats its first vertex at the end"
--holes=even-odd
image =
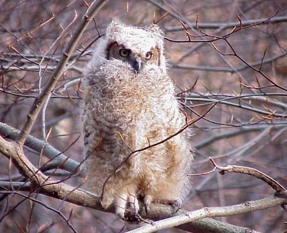
POLYGON ((180 207, 191 189, 188 133, 171 137, 186 125, 186 117, 163 53, 158 26, 112 22, 85 70, 88 187, 102 194, 103 208, 114 204, 122 218, 126 210, 138 210, 137 198, 145 206, 156 201, 180 207))

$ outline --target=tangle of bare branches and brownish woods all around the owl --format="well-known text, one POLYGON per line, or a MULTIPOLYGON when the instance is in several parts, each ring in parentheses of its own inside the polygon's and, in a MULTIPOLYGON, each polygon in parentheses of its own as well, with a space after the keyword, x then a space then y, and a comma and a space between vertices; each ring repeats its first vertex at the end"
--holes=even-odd
POLYGON ((0 231, 286 232, 286 8, 283 0, 0 1, 0 231), (165 31, 184 127, 195 133, 189 200, 177 213, 153 203, 142 224, 106 213, 113 209, 82 189, 82 70, 115 18, 165 31))

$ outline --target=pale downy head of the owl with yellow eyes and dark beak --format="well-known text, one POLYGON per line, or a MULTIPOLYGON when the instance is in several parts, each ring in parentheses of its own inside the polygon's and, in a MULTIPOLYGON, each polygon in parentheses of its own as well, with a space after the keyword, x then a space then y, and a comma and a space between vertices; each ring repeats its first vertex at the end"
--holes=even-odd
POLYGON ((134 73, 140 73, 149 65, 158 66, 166 73, 163 38, 164 34, 157 25, 144 28, 113 21, 107 27, 103 42, 98 45, 100 49, 95 51, 97 55, 94 55, 129 64, 134 73))

